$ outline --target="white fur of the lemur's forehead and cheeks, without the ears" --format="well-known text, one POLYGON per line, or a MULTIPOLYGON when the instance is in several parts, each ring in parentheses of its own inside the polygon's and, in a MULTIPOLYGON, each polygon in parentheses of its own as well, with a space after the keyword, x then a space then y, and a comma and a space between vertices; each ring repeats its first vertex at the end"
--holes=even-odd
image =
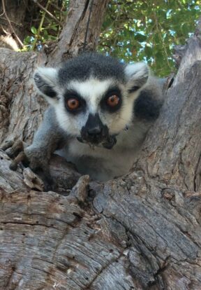
POLYGON ((84 82, 72 81, 68 85, 68 89, 72 89, 85 99, 87 103, 87 111, 85 113, 78 113, 72 115, 66 111, 64 107, 64 99, 61 97, 58 104, 54 104, 54 108, 57 113, 57 120, 61 127, 72 134, 73 136, 80 136, 82 127, 87 123, 89 113, 98 113, 101 121, 104 125, 107 125, 110 134, 118 134, 121 130, 124 130, 127 124, 131 123, 133 116, 133 102, 139 92, 135 92, 131 95, 127 95, 125 85, 119 84, 122 94, 121 108, 110 113, 101 110, 100 102, 102 97, 107 92, 108 88, 111 88, 115 84, 115 81, 110 79, 106 81, 99 81, 95 78, 90 78, 84 82))

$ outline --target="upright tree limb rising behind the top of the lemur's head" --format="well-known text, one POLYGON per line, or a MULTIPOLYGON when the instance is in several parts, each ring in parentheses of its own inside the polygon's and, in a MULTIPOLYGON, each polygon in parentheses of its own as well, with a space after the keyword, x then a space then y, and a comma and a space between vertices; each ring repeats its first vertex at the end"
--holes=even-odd
POLYGON ((74 0, 70 2, 68 17, 66 18, 64 29, 59 36, 57 47, 48 54, 50 66, 58 65, 64 62, 64 60, 82 52, 86 32, 87 47, 85 50, 94 50, 96 48, 108 2, 109 0, 74 0), (92 9, 91 18, 87 29, 90 9, 92 9))

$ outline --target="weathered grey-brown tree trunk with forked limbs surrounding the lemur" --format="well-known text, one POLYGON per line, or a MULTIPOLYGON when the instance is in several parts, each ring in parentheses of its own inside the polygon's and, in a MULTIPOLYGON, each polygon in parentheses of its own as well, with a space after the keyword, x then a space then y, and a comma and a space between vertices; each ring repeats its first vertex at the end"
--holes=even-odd
MULTIPOLYGON (((71 2, 68 33, 47 57, 1 49, 1 141, 15 134, 31 141, 45 108, 31 74, 38 63, 61 63, 82 48, 90 3, 71 2)), ((94 1, 91 48, 106 4, 94 1)), ((40 185, 36 191, 35 177, 11 172, 1 151, 0 289, 201 289, 200 35, 198 28, 178 50, 179 71, 161 116, 126 177, 89 182, 54 156, 62 194, 40 185)))

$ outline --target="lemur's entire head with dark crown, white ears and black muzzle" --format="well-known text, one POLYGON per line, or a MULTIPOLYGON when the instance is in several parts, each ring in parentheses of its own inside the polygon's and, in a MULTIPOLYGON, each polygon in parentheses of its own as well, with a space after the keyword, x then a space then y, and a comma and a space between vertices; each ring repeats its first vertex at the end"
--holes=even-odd
POLYGON ((112 148, 131 123, 133 102, 147 83, 147 64, 81 55, 60 69, 39 68, 36 86, 54 106, 59 125, 84 143, 112 148))

